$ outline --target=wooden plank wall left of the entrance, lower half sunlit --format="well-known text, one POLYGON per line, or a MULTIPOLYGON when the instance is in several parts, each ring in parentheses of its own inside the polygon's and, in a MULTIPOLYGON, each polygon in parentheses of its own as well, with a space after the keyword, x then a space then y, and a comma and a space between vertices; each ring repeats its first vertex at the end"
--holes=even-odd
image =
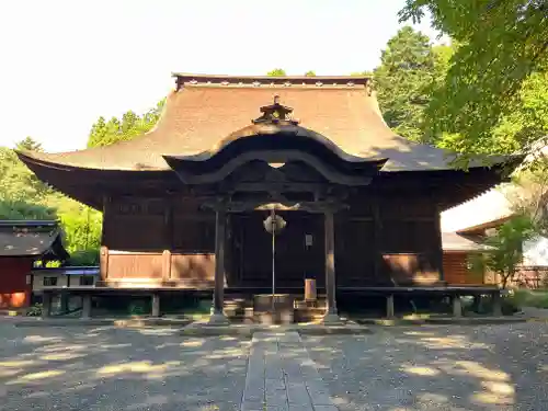
POLYGON ((114 198, 104 210, 102 281, 117 286, 209 287, 215 215, 171 198, 114 198))

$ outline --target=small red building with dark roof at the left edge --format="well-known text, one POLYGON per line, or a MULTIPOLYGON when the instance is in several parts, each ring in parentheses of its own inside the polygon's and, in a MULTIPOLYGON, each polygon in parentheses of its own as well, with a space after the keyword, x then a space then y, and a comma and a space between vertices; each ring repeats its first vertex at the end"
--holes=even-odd
POLYGON ((56 221, 0 221, 0 308, 30 305, 36 261, 67 259, 56 221))

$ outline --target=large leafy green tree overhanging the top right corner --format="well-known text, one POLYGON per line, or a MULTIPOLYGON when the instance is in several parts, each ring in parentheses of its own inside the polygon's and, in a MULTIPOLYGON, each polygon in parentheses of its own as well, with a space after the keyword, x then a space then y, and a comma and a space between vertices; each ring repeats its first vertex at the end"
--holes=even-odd
POLYGON ((425 129, 433 136, 460 134, 463 152, 498 147, 500 136, 492 130, 521 106, 529 76, 548 69, 548 3, 407 0, 400 20, 416 22, 426 12, 459 46, 425 111, 425 129))

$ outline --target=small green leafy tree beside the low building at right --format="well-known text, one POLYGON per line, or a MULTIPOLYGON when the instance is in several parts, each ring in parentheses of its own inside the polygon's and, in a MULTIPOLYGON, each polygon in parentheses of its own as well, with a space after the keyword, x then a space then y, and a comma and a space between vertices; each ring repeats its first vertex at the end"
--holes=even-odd
POLYGON ((490 249, 482 254, 470 256, 472 272, 490 271, 501 276, 502 287, 513 281, 517 266, 523 261, 523 243, 534 236, 533 225, 527 216, 515 216, 496 229, 496 233, 486 239, 490 249))

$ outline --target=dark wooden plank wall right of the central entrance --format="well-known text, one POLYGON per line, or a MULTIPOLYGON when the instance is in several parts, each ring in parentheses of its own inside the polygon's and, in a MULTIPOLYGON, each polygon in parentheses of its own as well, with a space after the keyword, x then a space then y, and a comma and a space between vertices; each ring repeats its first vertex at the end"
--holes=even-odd
POLYGON ((439 215, 430 197, 353 198, 338 215, 339 286, 429 285, 443 275, 439 215))

